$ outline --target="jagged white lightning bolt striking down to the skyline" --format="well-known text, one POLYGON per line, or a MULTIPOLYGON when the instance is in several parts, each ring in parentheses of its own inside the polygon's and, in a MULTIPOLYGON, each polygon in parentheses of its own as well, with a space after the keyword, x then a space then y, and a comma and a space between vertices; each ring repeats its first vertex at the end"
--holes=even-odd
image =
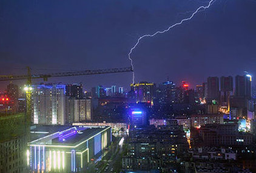
MULTIPOLYGON (((132 58, 130 57, 130 54, 132 54, 132 51, 133 51, 133 50, 136 48, 136 46, 140 43, 141 39, 143 39, 143 38, 148 38, 148 37, 153 37, 153 36, 155 36, 155 35, 157 35, 157 34, 163 34, 163 33, 167 32, 167 31, 169 31, 171 28, 176 27, 177 25, 181 25, 181 24, 183 24, 183 22, 185 22, 185 21, 189 21, 189 20, 192 19, 198 12, 200 12, 200 10, 206 10, 207 8, 209 8, 209 7, 214 3, 214 1, 216 1, 216 0, 211 0, 211 1, 209 1, 209 2, 208 2, 208 5, 206 5, 206 6, 200 6, 200 7, 198 7, 197 10, 195 10, 194 13, 192 13, 192 15, 190 15, 189 18, 182 19, 180 22, 178 22, 178 23, 176 23, 176 24, 173 24, 173 25, 171 25, 170 27, 168 27, 166 30, 163 30, 163 31, 156 31, 156 32, 153 33, 153 34, 145 34, 145 35, 141 36, 140 38, 138 38, 136 44, 130 49, 130 52, 129 52, 129 54, 128 54, 128 58, 129 58, 129 60, 130 60, 130 65, 132 66, 132 69, 133 69, 133 60, 132 60, 132 58)), ((135 73, 134 73, 134 71, 133 71, 133 72, 132 72, 132 83, 135 83, 134 80, 135 80, 135 73)))

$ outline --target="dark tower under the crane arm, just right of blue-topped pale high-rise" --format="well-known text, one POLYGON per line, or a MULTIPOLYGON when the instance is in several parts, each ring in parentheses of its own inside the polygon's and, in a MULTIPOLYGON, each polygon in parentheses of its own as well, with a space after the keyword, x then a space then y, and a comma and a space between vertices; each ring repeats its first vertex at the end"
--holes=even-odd
POLYGON ((66 85, 66 96, 83 99, 84 93, 82 83, 66 85))

